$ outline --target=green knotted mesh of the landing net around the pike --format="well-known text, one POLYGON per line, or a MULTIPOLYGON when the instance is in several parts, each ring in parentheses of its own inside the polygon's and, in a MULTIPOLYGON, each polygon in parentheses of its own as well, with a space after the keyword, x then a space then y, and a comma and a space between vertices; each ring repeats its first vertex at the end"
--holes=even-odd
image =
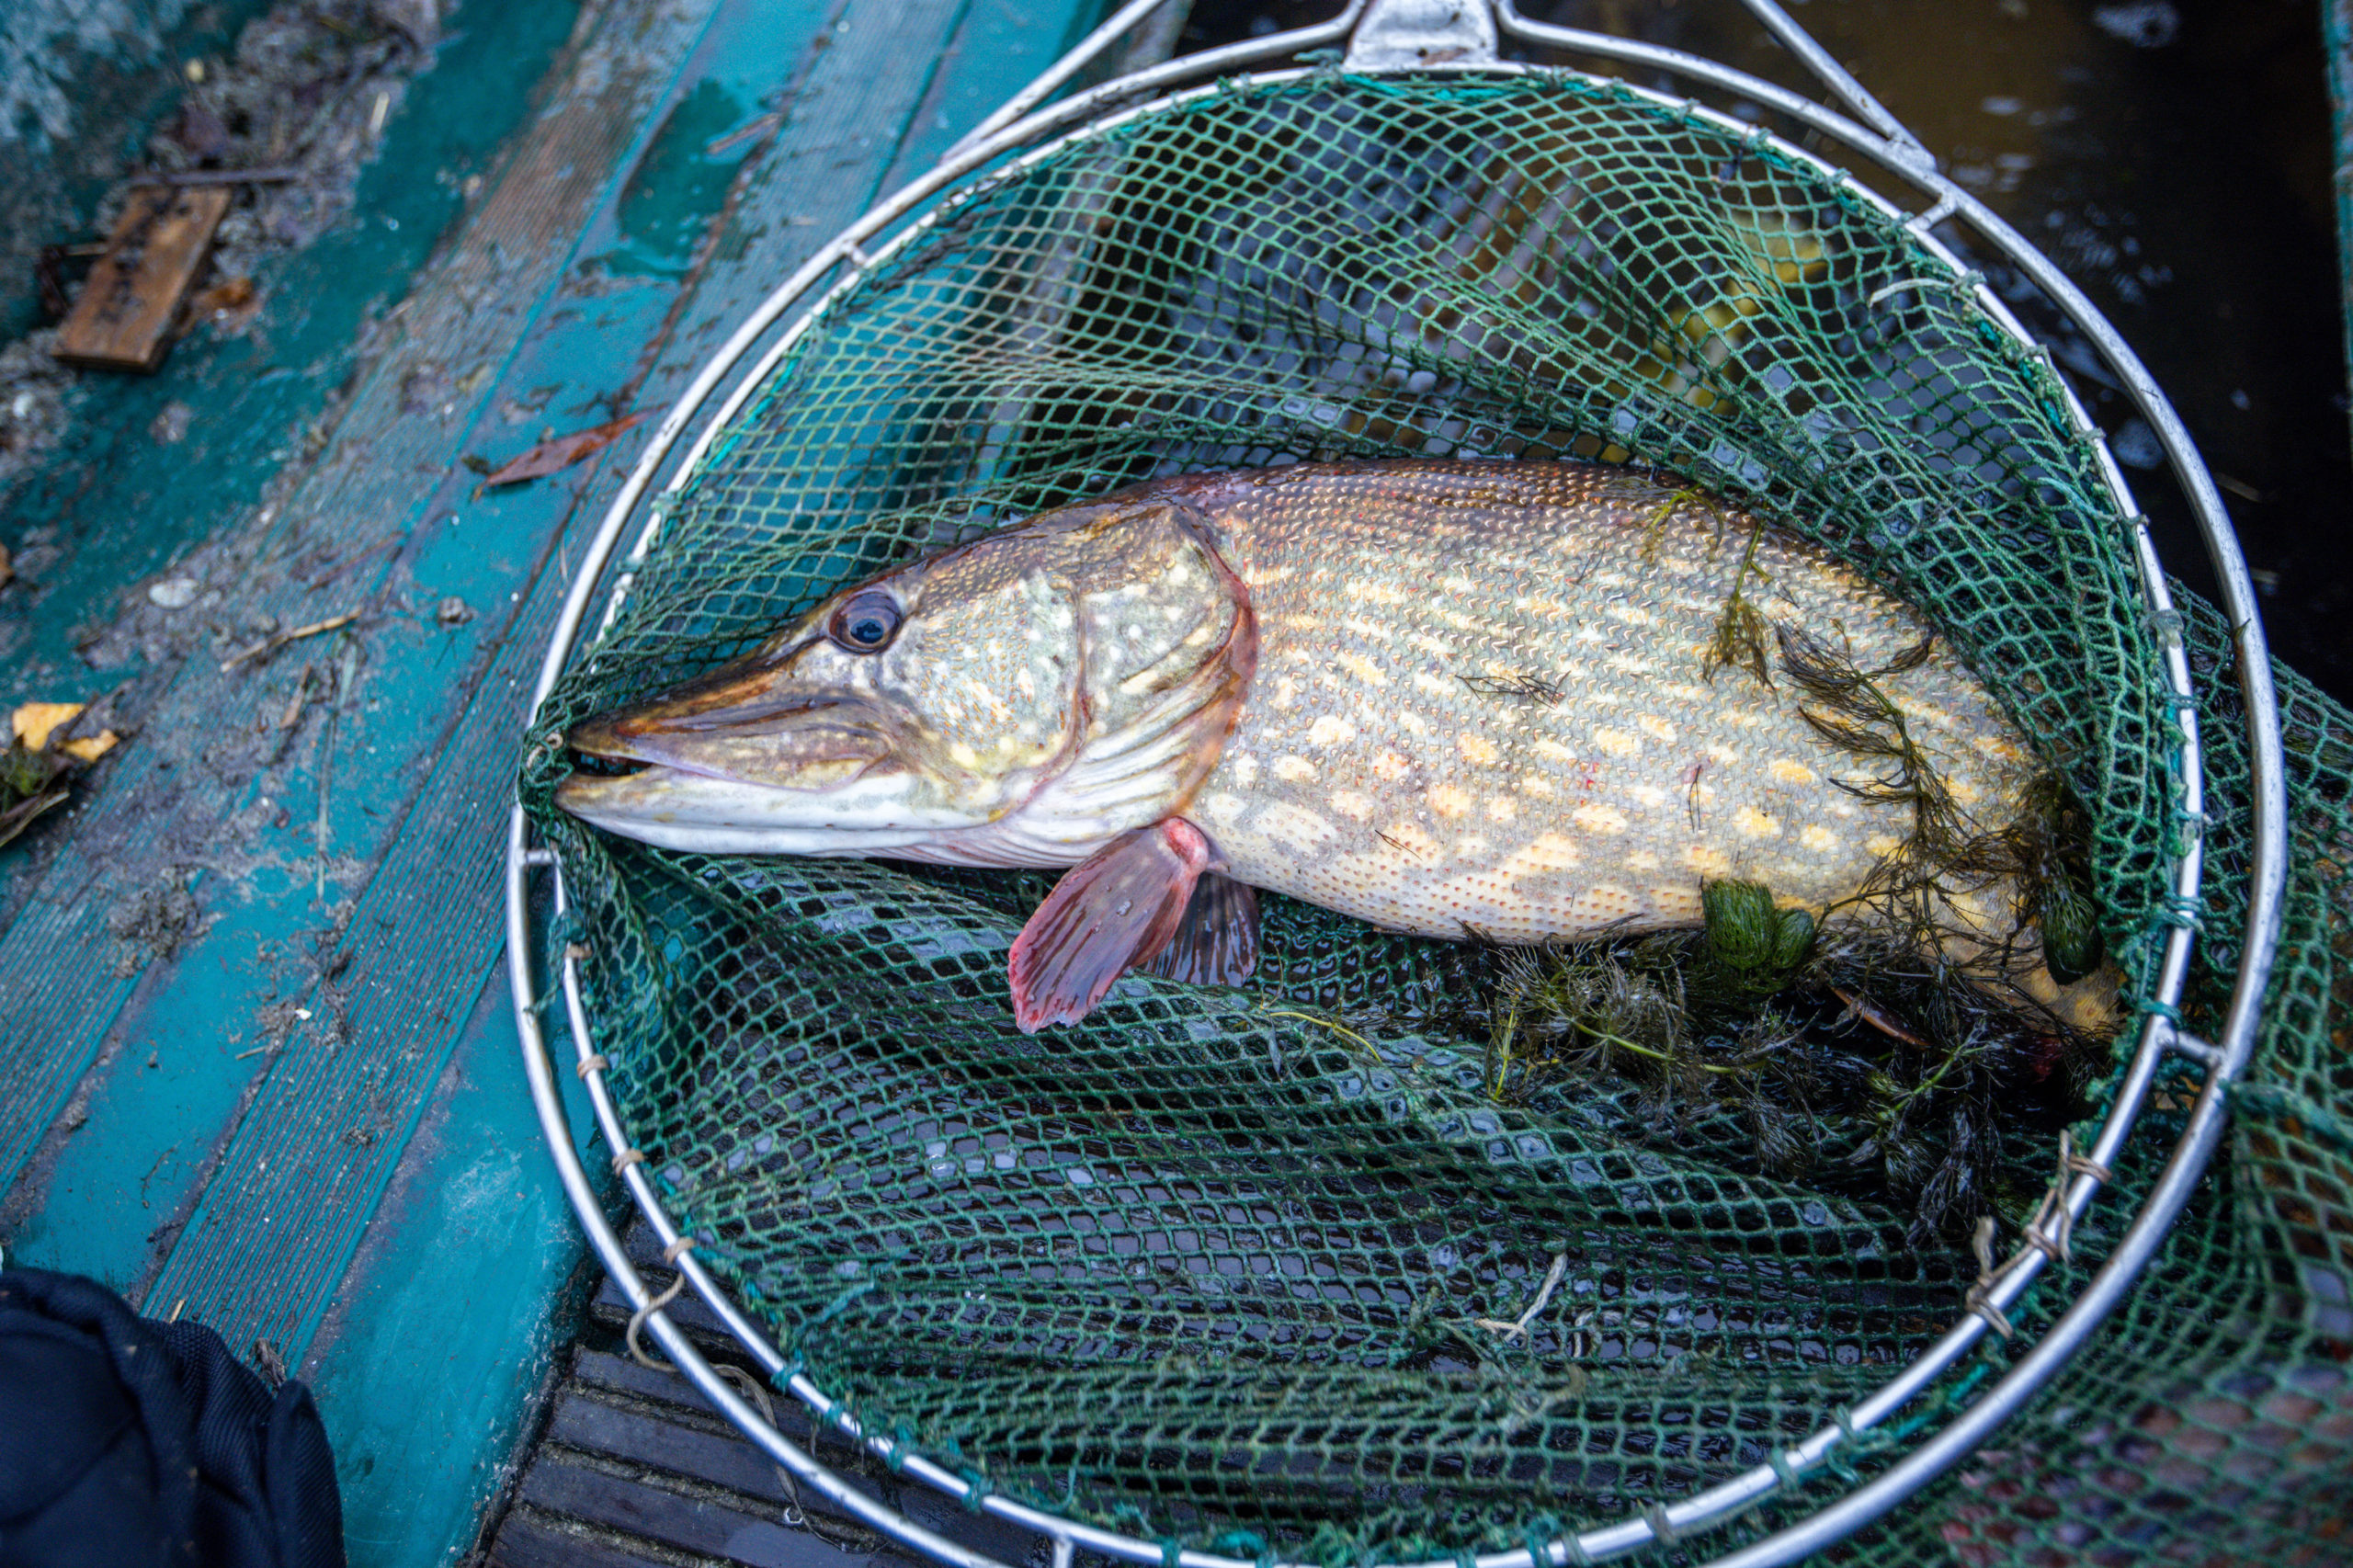
MULTIPOLYGON (((2165 897, 2193 824, 2158 671, 2188 636, 2214 815, 2191 1024, 2235 961, 2247 763, 2217 617, 2148 614, 2047 363, 1847 181, 1579 78, 1332 71, 981 181, 821 311, 666 504, 522 791, 624 1123, 699 1257, 868 1429, 1172 1547, 1452 1556, 1689 1495, 1838 1422, 1977 1264, 1708 1125, 1654 1137, 1607 1085, 1494 1102, 1485 1041, 1348 1022, 1464 984, 1461 949, 1285 899, 1249 989, 1127 977, 1087 1024, 1021 1036, 1005 949, 1045 876, 607 841, 551 808, 558 737, 1042 506, 1395 454, 1657 464, 1920 603, 2089 808, 2127 994, 2200 918, 2165 897), (1525 1333, 1480 1326, 1520 1318, 1553 1260, 1525 1333)), ((2353 1552, 2325 1540, 2353 1474, 2353 730, 2285 680, 2297 883, 2228 1161, 2094 1347, 1871 1561, 2353 1552)), ((2160 1085, 2019 1335, 1854 1464, 2073 1300, 2184 1095, 2160 1085)), ((1706 1556, 1840 1486, 1654 1552, 1706 1556)))

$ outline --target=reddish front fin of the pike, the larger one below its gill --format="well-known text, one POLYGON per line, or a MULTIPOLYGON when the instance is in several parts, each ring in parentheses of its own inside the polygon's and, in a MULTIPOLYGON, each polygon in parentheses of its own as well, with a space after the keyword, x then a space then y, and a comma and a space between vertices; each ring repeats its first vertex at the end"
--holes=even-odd
POLYGON ((1071 866, 1005 961, 1021 1034, 1075 1024, 1113 979, 1160 956, 1184 925, 1207 864, 1209 841, 1200 829, 1167 817, 1071 866))

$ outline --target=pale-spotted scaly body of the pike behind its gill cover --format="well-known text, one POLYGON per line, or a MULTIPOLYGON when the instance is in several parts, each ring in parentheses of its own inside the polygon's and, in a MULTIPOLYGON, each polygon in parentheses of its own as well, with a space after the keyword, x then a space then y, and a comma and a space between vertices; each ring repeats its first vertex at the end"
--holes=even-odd
MULTIPOLYGON (((1744 572, 1864 669, 1927 626, 1788 532, 1565 464, 1278 469, 1172 485, 1249 586, 1259 671, 1191 817, 1233 873, 1393 930, 1541 942, 1697 925, 1701 883, 1814 911, 1911 831, 1786 678, 1708 666, 1744 572)), ((1941 645, 1882 692, 1979 829, 2031 758, 1941 645)))

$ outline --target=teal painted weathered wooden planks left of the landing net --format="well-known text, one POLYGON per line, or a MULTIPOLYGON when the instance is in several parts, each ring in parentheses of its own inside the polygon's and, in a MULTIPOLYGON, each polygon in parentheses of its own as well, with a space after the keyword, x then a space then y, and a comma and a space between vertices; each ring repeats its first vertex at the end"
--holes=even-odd
POLYGON ((501 855, 569 565, 652 421, 515 490, 464 459, 666 405, 1099 9, 464 0, 259 330, 96 381, 9 501, 40 570, 0 598, 0 697, 108 699, 127 739, 0 852, 0 1243, 271 1342, 353 1563, 471 1544, 586 1285, 501 855))

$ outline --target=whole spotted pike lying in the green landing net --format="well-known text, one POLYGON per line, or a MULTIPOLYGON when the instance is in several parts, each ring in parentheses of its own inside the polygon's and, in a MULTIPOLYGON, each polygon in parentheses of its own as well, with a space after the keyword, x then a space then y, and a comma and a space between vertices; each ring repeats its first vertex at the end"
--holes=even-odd
MULTIPOLYGON (((1071 866, 1012 946, 1026 1031, 1127 970, 1245 979, 1254 888, 1537 944, 1694 928, 1741 878, 1835 930, 1922 779, 2000 833, 2038 777, 1922 617, 1800 537, 1628 469, 1428 459, 1047 511, 567 739, 635 770, 558 803, 645 843, 1071 866)), ((2099 1010, 2014 885, 1941 897, 1962 968, 2002 951, 2031 1001, 2099 1010)))

